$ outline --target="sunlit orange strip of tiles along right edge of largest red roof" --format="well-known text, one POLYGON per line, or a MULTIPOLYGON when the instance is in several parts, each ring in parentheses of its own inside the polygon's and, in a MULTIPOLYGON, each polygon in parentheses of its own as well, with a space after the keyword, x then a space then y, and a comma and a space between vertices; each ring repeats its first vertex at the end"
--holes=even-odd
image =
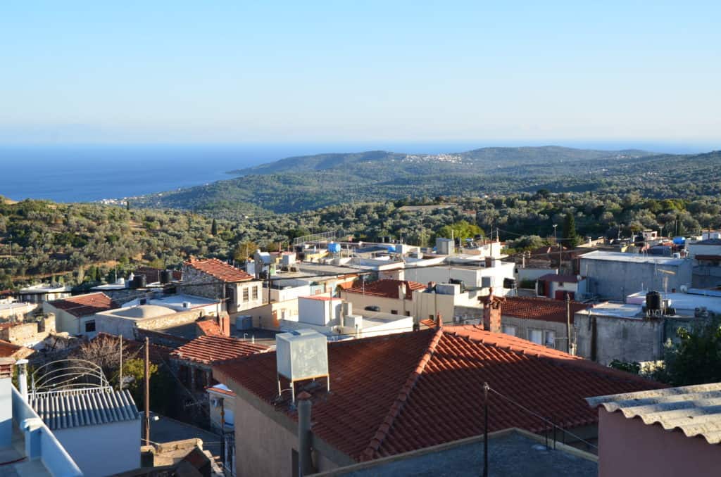
MULTIPOLYGON (((468 329, 469 331, 485 331, 481 326, 477 325, 466 325, 466 326, 454 326, 456 330, 451 330, 456 336, 461 336, 466 339, 469 339, 474 342, 479 342, 482 344, 486 344, 488 346, 496 347, 499 349, 505 349, 506 351, 514 352, 518 355, 523 356, 531 356, 536 357, 539 360, 548 360, 553 362, 556 365, 559 366, 570 366, 570 367, 580 367, 583 368, 583 370, 588 371, 590 373, 593 373, 595 375, 604 375, 610 378, 616 378, 621 380, 627 380, 627 381, 634 381, 637 383, 657 383, 660 388, 666 388, 668 385, 665 385, 663 383, 658 383, 654 380, 642 378, 639 375, 634 375, 632 373, 626 373, 621 370, 616 370, 613 367, 607 367, 603 365, 599 365, 597 362, 586 360, 583 357, 576 356, 576 355, 570 355, 569 353, 559 351, 557 349, 544 347, 542 344, 536 344, 533 342, 528 342, 528 346, 525 347, 517 347, 513 346, 513 344, 502 344, 498 340, 493 339, 487 339, 487 338, 479 338, 475 336, 470 336, 469 334, 462 334, 459 333, 459 329, 468 329)), ((490 334, 490 331, 486 331, 490 334)), ((512 336, 514 341, 516 339, 520 339, 521 341, 526 341, 525 339, 516 338, 515 336, 512 336)))

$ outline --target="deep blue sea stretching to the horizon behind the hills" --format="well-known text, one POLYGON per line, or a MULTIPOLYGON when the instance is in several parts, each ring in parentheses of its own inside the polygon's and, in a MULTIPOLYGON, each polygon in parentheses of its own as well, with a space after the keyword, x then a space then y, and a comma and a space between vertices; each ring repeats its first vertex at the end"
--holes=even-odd
POLYGON ((569 147, 643 148, 668 153, 702 147, 640 143, 503 143, 487 141, 376 143, 254 143, 231 145, 0 145, 0 195, 12 200, 96 202, 177 190, 236 177, 229 171, 329 152, 446 153, 488 146, 559 144, 569 147), (650 148, 645 147, 650 146, 650 148))

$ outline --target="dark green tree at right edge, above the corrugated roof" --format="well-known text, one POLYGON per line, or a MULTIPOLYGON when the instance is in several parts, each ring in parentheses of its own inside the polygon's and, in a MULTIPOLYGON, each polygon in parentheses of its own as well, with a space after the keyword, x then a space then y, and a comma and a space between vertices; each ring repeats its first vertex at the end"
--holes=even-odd
POLYGON ((721 320, 690 331, 679 328, 678 342, 666 344, 664 364, 654 378, 674 386, 721 381, 721 320))

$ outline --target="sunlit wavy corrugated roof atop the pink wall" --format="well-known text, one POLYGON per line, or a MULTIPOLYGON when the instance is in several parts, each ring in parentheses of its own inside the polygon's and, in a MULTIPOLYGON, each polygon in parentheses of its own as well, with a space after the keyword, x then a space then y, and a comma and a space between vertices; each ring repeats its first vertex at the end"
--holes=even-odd
POLYGON ((686 437, 703 436, 709 444, 721 442, 721 383, 655 389, 639 393, 586 398, 596 408, 640 417, 644 424, 660 424, 686 437))

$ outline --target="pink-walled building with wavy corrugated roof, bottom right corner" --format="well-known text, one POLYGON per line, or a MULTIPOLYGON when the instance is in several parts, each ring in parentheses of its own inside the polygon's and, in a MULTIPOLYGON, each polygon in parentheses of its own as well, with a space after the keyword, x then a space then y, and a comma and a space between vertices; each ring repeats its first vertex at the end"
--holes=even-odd
POLYGON ((599 477, 713 476, 721 383, 587 398, 598 409, 599 477))

